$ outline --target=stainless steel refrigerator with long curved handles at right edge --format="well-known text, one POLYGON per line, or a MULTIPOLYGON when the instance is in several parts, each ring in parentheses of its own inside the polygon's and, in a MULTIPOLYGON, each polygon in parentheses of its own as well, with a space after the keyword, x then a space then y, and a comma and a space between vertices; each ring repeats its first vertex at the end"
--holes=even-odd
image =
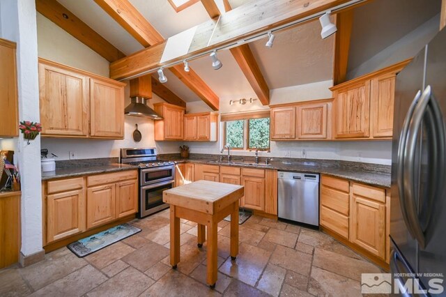
MULTIPOLYGON (((446 277, 446 30, 397 75, 395 88, 390 267, 446 277)), ((424 288, 429 279, 420 277, 424 288)))

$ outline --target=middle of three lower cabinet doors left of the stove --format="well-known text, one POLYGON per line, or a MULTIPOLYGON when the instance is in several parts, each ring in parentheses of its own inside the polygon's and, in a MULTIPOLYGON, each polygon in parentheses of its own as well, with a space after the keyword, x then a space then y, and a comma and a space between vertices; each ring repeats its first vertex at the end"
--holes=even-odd
POLYGON ((116 185, 89 188, 86 197, 86 227, 91 229, 116 218, 116 185))

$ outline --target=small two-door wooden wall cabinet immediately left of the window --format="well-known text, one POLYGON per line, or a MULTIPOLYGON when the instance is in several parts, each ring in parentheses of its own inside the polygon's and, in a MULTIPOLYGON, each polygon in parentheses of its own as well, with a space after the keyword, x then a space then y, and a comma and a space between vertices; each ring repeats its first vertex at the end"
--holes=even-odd
POLYGON ((184 140, 199 142, 217 141, 217 119, 214 112, 185 114, 184 140))

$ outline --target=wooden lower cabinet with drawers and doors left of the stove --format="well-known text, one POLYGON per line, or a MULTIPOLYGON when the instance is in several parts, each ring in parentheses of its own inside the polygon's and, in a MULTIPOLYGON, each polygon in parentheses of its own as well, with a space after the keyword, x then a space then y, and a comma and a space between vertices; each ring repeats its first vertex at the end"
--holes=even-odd
POLYGON ((44 181, 44 245, 137 213, 137 178, 129 170, 44 181))

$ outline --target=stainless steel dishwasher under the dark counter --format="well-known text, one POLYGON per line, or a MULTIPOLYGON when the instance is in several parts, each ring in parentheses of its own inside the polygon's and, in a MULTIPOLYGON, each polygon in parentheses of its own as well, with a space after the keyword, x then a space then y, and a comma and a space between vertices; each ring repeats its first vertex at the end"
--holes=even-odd
POLYGON ((278 172, 279 218, 319 225, 319 174, 278 172))

